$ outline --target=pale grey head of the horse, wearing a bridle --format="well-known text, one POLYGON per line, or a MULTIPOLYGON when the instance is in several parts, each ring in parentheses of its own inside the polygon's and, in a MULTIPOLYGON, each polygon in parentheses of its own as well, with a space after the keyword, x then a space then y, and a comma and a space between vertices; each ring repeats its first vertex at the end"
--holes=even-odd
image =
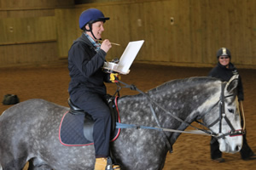
POLYGON ((242 132, 239 103, 236 97, 238 75, 233 76, 230 82, 222 82, 220 93, 212 100, 216 104, 204 117, 203 122, 216 135, 219 150, 235 153, 241 150, 242 132))

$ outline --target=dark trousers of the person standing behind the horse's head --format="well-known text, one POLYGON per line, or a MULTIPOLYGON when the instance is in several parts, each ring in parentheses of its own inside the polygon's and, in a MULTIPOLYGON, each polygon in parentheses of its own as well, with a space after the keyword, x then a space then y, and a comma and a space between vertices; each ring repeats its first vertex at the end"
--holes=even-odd
MULTIPOLYGON (((241 121, 241 126, 243 125, 243 121, 241 121)), ((212 141, 214 138, 212 137, 212 141)), ((219 150, 218 140, 215 140, 213 143, 211 141, 211 158, 217 159, 222 156, 222 152, 219 150)), ((247 134, 242 135, 242 147, 240 150, 241 159, 247 159, 250 156, 253 156, 253 150, 247 144, 247 134)))

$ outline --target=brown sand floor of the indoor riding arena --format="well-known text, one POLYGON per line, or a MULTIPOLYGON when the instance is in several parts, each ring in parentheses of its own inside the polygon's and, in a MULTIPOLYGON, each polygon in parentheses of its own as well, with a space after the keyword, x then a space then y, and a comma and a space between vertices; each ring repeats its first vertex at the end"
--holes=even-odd
MULTIPOLYGON (((163 82, 186 77, 207 76, 211 68, 174 67, 167 65, 133 64, 131 73, 122 76, 122 81, 135 84, 147 91, 163 82)), ((240 69, 244 86, 243 102, 247 123, 247 141, 256 152, 256 70, 240 69)), ((22 66, 0 68, 0 96, 17 94, 20 101, 26 99, 46 99, 59 105, 67 105, 67 87, 69 82, 67 64, 22 66)), ((108 94, 115 92, 116 86, 108 84, 108 94)), ((121 95, 137 94, 130 89, 122 89, 121 95)), ((9 105, 0 105, 0 114, 9 105)), ((215 163, 210 159, 210 137, 182 134, 173 145, 173 153, 166 157, 164 170, 169 169, 219 169, 249 170, 256 169, 256 160, 242 161, 240 154, 224 154, 224 163, 215 163)))

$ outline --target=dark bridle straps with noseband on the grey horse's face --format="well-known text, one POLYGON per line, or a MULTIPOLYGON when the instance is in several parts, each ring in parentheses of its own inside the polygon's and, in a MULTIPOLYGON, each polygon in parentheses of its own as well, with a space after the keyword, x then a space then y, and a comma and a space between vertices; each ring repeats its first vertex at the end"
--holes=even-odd
POLYGON ((242 135, 244 133, 244 129, 236 130, 233 127, 233 125, 231 124, 229 118, 226 116, 224 99, 232 97, 232 96, 234 96, 234 94, 224 96, 224 87, 225 87, 225 85, 226 85, 226 82, 223 82, 222 85, 221 85, 221 95, 220 95, 220 99, 218 100, 218 103, 219 103, 219 117, 216 119, 216 121, 212 122, 208 126, 208 128, 210 129, 210 127, 212 127, 213 125, 215 125, 216 123, 219 122, 218 134, 213 133, 213 137, 215 137, 216 139, 221 139, 221 138, 224 139, 224 137, 227 136, 227 135, 230 135, 230 137, 232 137, 232 136, 242 135), (231 131, 229 133, 222 133, 222 119, 224 119, 231 128, 231 131))

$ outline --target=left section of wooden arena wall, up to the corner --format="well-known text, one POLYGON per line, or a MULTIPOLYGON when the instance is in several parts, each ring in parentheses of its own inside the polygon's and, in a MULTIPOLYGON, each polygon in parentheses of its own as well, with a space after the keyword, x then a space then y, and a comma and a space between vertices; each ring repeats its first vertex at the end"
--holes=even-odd
POLYGON ((0 0, 0 66, 58 61, 56 11, 73 7, 73 0, 0 0))

